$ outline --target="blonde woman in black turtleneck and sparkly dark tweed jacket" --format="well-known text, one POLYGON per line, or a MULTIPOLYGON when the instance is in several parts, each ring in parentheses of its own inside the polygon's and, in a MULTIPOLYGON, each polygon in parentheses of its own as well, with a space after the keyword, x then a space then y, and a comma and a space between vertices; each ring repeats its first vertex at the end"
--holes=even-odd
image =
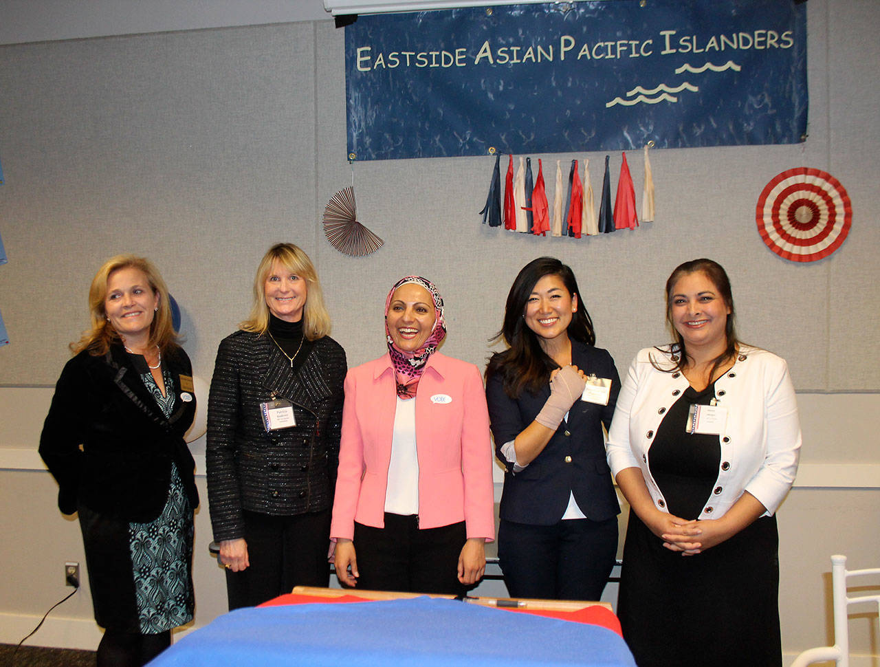
POLYGON ((330 582, 347 370, 297 246, 269 248, 253 296, 217 350, 208 402, 208 501, 230 609, 330 582))

